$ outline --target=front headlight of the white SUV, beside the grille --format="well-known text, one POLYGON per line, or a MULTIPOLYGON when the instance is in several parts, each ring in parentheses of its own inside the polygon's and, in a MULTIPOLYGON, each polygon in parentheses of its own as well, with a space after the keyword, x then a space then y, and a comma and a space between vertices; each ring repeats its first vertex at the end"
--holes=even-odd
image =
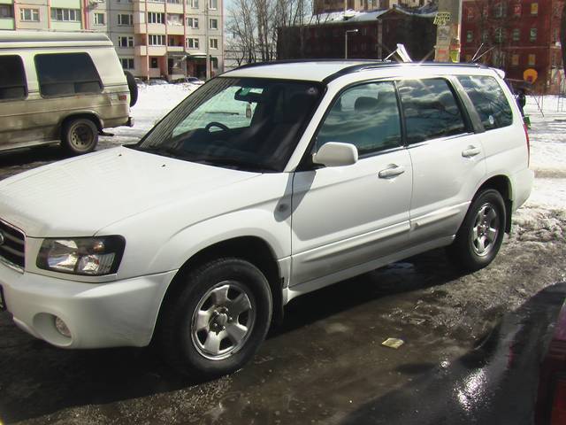
POLYGON ((118 271, 125 246, 122 236, 44 239, 36 265, 61 273, 114 274, 118 271))

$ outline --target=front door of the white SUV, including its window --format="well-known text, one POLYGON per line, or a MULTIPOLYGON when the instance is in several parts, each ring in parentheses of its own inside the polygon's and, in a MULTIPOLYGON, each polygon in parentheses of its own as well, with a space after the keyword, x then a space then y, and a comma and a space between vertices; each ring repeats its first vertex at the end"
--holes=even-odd
POLYGON ((318 130, 315 148, 328 142, 354 144, 359 159, 352 166, 294 174, 292 285, 348 275, 352 267, 363 271, 409 242, 412 170, 394 83, 343 91, 318 130))

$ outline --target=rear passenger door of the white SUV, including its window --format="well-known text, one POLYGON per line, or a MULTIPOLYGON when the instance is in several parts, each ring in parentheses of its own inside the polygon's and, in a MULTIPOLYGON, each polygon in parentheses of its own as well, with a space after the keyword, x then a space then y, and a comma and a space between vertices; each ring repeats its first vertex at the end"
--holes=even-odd
POLYGON ((398 81, 413 166, 410 241, 455 234, 486 174, 485 153, 451 82, 398 81))

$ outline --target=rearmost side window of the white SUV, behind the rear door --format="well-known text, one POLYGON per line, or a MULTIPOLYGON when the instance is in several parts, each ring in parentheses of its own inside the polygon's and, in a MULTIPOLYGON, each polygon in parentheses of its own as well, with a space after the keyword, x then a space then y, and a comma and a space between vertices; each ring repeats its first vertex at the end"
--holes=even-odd
POLYGON ((510 126, 513 112, 498 82, 493 77, 461 76, 458 80, 478 111, 486 130, 510 126))

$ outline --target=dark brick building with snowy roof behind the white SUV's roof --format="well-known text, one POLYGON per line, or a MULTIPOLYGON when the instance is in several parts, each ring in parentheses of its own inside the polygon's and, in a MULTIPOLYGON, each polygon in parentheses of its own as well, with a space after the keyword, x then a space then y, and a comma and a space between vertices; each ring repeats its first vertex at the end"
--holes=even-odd
POLYGON ((302 27, 279 30, 277 57, 344 58, 346 31, 348 58, 386 58, 398 42, 405 45, 414 60, 432 58, 436 42, 434 12, 418 12, 394 7, 388 10, 357 13, 344 20, 313 21, 302 27))

